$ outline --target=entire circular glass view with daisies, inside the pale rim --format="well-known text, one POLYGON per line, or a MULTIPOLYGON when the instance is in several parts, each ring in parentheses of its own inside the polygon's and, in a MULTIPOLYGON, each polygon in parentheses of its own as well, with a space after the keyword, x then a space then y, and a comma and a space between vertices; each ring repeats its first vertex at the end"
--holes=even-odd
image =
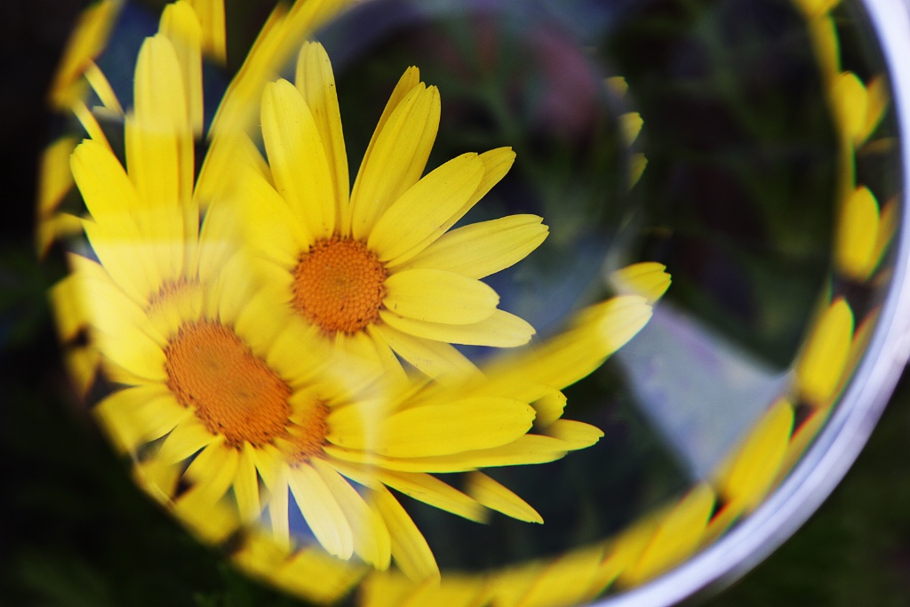
POLYGON ((319 604, 610 601, 761 520, 904 214, 848 12, 749 4, 91 3, 35 248, 129 490, 319 604))

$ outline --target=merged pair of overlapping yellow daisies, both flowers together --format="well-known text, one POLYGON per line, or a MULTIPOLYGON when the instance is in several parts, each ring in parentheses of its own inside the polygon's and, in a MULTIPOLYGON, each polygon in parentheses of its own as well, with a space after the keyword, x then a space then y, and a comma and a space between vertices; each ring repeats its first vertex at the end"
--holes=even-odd
POLYGON ((174 26, 194 19, 173 5, 143 42, 123 159, 99 134, 70 160, 87 245, 69 255, 70 280, 110 389, 94 411, 137 480, 208 541, 258 530, 288 551, 394 563, 414 581, 440 571, 397 495, 469 521, 543 522, 482 470, 560 460, 602 437, 562 419, 561 389, 632 339, 653 297, 607 299, 567 332, 475 368, 449 340, 518 346, 533 332, 478 278, 539 245, 541 218, 448 231, 509 170, 511 150, 420 178, 440 106, 410 68, 349 204, 329 58, 304 44, 309 103, 285 80, 264 88, 269 172, 243 157, 227 185, 194 179, 201 91, 182 59, 198 47, 187 52, 174 26), (200 192, 218 192, 204 211, 200 192))

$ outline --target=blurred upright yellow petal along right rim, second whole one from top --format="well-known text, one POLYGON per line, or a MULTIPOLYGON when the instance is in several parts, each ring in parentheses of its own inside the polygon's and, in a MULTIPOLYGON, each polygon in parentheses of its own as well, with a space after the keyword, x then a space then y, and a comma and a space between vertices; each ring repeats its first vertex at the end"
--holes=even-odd
POLYGON ((848 278, 864 280, 872 270, 878 224, 875 196, 868 187, 857 187, 842 204, 834 246, 837 269, 848 278))

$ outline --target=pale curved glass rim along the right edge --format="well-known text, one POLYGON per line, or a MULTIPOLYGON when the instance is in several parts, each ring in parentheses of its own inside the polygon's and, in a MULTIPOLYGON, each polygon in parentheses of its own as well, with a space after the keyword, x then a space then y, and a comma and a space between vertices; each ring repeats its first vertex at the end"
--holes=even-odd
POLYGON ((594 605, 672 605, 717 592, 794 534, 834 491, 862 450, 910 355, 910 2, 863 0, 891 81, 904 191, 895 270, 875 334, 831 418, 787 478, 751 515, 692 559, 644 585, 594 605))

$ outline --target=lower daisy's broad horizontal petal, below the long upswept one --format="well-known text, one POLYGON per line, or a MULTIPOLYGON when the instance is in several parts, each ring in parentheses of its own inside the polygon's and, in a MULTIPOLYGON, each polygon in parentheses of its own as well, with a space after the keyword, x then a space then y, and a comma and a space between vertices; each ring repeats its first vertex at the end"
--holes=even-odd
POLYGON ((470 399, 403 410, 375 419, 362 408, 334 410, 327 438, 346 449, 422 458, 489 449, 531 429, 534 410, 509 399, 470 399))

